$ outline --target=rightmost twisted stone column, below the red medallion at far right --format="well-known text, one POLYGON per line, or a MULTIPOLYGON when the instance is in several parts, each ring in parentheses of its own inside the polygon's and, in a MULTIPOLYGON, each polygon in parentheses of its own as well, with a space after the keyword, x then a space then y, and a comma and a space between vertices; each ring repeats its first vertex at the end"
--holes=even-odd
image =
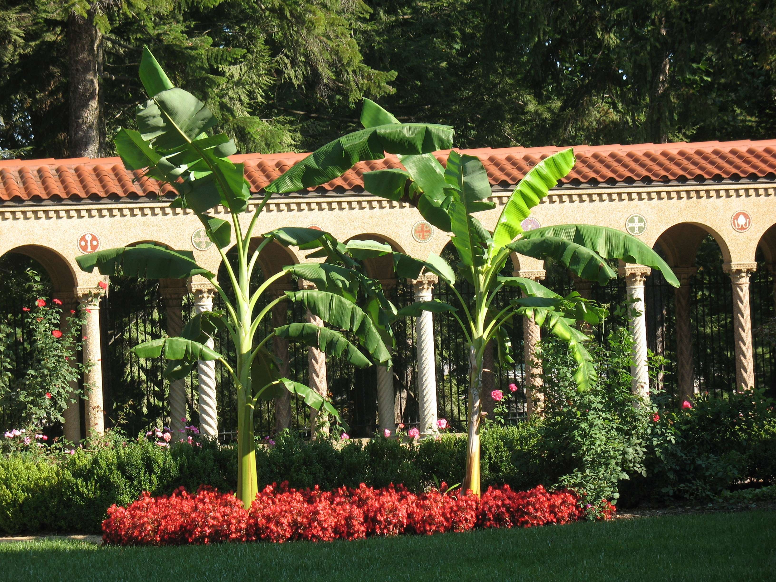
POLYGON ((752 350, 752 314, 749 278, 757 270, 756 262, 725 263, 722 269, 733 282, 733 335, 736 341, 736 390, 754 387, 752 350))

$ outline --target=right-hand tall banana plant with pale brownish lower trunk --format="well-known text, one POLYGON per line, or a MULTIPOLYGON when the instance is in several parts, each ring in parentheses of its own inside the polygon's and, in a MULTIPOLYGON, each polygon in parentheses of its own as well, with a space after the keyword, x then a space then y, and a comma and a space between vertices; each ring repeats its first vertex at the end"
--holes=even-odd
MULTIPOLYGON (((362 115, 366 127, 398 124, 385 109, 369 104, 362 115)), ((446 311, 455 317, 469 346, 468 444, 464 489, 480 494, 480 426, 482 423, 483 358, 490 341, 498 346, 501 365, 511 362, 510 342, 505 326, 515 317, 534 317, 537 324, 566 341, 577 362, 574 378, 579 390, 596 380, 591 355, 585 348, 588 337, 575 327, 577 320, 596 324, 603 311, 583 300, 578 293, 562 297, 531 279, 501 276, 511 253, 535 258, 553 258, 583 279, 604 284, 615 272, 605 259, 616 258, 650 266, 663 272, 671 285, 679 282, 670 268, 651 248, 636 238, 605 227, 565 224, 523 231, 521 222, 549 189, 567 175, 575 163, 573 150, 553 154, 535 165, 515 187, 491 233, 475 215, 494 209, 488 200, 490 182, 479 158, 450 151, 445 165, 432 154, 400 154, 404 169, 365 173, 365 189, 376 196, 400 200, 417 207, 425 220, 452 234, 459 262, 457 277, 452 268, 444 277, 456 294, 460 310, 438 301, 416 303, 400 314, 416 315, 421 310, 446 311), (457 281, 473 287, 473 299, 459 293, 457 281), (495 307, 495 298, 506 287, 521 289, 521 298, 495 307)), ((428 270, 439 274, 438 257, 430 257, 428 270)))

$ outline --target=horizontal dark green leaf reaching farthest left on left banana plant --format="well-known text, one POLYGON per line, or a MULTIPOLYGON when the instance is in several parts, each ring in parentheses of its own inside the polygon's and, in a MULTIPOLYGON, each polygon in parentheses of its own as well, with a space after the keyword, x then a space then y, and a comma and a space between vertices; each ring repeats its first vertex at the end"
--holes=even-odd
POLYGON ((185 279, 194 275, 213 279, 216 276, 196 264, 192 251, 173 251, 151 243, 107 248, 76 257, 75 261, 81 271, 94 272, 96 267, 102 275, 126 275, 140 279, 185 279))

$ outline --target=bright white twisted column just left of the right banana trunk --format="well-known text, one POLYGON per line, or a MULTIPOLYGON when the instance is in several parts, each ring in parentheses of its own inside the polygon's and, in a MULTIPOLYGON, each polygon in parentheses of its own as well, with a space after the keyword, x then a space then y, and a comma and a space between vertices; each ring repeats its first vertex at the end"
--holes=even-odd
MULTIPOLYGON (((431 289, 438 282, 437 275, 427 273, 419 279, 410 279, 415 301, 431 301, 431 289)), ((421 435, 437 431, 436 357, 434 352, 434 320, 430 311, 415 318, 417 337, 417 400, 421 409, 421 435)))

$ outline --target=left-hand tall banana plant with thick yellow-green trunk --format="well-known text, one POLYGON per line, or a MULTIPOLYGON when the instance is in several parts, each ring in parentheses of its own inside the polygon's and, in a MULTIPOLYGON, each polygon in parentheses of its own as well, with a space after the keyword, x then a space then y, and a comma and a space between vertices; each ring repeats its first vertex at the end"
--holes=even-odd
MULTIPOLYGON (((137 107, 137 130, 122 129, 117 133, 116 150, 128 170, 141 171, 144 177, 175 189, 178 196, 171 206, 189 210, 199 218, 221 255, 234 296, 224 292, 213 272, 197 265, 192 251, 173 250, 161 244, 98 251, 78 257, 78 265, 87 272, 97 268, 103 275, 149 279, 202 275, 213 284, 223 310, 193 317, 181 337, 148 341, 134 351, 141 358, 161 355, 167 359, 165 376, 170 379, 188 374, 198 360, 215 360, 227 370, 237 390, 237 497, 248 507, 257 494, 254 410, 258 400, 273 399, 287 390, 298 394, 308 406, 338 417, 334 407, 314 390, 278 376, 276 362, 267 349, 268 341, 273 336, 299 341, 362 367, 372 363, 363 353, 366 352, 372 361, 390 365, 392 337, 386 314, 396 312, 379 285, 365 277, 348 247, 331 234, 304 228, 272 230, 263 234, 258 247, 251 251, 251 239, 262 210, 273 193, 323 184, 357 161, 383 158, 386 152, 422 155, 449 148, 452 128, 387 123, 349 133, 314 151, 267 185, 251 216, 251 185, 244 178, 243 165, 228 159, 235 153, 234 142, 224 133, 208 133, 217 126, 210 110, 191 93, 175 87, 147 49, 140 62, 140 81, 149 99, 137 107), (228 220, 210 213, 219 205, 229 211, 228 220), (289 265, 252 289, 251 274, 259 255, 272 241, 310 250, 316 257, 326 257, 327 262, 289 265), (227 261, 229 248, 236 251, 234 266, 227 261), (262 296, 272 283, 287 274, 309 279, 317 289, 289 291, 259 309, 262 296), (275 327, 264 338, 258 338, 262 321, 281 301, 302 303, 331 327, 351 332, 358 346, 331 327, 307 323, 275 327), (363 309, 359 303, 364 305, 363 309), (236 359, 230 360, 207 345, 217 332, 227 334, 234 343, 236 359)), ((354 247, 353 252, 367 256, 370 251, 354 247)))

